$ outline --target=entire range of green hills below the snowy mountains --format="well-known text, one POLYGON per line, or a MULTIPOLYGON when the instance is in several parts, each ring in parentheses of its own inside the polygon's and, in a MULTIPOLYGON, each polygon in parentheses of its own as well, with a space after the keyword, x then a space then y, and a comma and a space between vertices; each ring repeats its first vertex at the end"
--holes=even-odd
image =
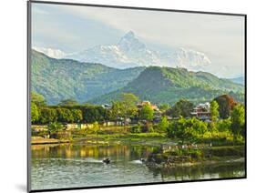
POLYGON ((67 98, 80 103, 110 103, 123 92, 153 103, 173 104, 180 98, 203 102, 223 94, 244 100, 244 86, 206 72, 159 66, 116 69, 55 59, 35 50, 32 51, 31 81, 32 91, 45 96, 49 105, 67 98))

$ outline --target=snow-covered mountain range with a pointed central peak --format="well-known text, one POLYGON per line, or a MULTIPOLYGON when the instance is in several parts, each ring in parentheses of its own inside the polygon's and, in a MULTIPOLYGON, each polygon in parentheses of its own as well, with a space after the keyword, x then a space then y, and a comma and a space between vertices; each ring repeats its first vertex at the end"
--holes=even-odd
POLYGON ((211 63, 210 58, 204 53, 188 48, 179 47, 164 52, 149 49, 132 31, 121 37, 117 45, 94 46, 75 54, 66 54, 61 50, 54 52, 52 48, 33 48, 55 58, 100 63, 119 69, 135 66, 179 66, 198 71, 211 63))

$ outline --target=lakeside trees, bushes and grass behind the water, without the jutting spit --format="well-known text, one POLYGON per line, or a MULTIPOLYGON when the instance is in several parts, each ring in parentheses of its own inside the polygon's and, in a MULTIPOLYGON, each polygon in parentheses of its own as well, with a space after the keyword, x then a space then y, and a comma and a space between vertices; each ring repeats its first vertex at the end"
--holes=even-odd
POLYGON ((31 120, 32 124, 46 125, 49 134, 65 130, 68 123, 90 124, 87 129, 72 131, 72 138, 128 134, 148 137, 148 134, 154 134, 178 140, 180 144, 244 142, 244 107, 234 102, 231 96, 220 96, 211 101, 209 121, 191 117, 194 105, 185 99, 179 100, 173 107, 162 104, 158 111, 149 104, 138 107, 138 102, 138 96, 124 93, 108 108, 80 105, 70 99, 61 101, 58 106, 46 106, 45 98, 33 93, 31 120), (104 126, 109 121, 119 125, 104 126))

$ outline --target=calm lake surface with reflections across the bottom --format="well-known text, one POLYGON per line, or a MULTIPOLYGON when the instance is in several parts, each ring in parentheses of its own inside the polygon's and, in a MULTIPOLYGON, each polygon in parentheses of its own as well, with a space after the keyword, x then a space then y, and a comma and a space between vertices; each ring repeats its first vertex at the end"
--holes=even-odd
POLYGON ((32 189, 78 188, 206 178, 243 177, 244 163, 171 168, 148 168, 139 159, 156 147, 84 144, 32 146, 32 189), (109 157, 110 164, 102 159, 109 157))

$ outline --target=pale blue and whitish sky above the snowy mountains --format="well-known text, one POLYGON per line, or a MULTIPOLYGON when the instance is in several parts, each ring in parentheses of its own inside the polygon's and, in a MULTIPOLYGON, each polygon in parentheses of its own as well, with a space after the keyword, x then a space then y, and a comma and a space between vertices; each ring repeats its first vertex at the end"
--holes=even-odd
POLYGON ((77 5, 32 4, 32 46, 66 53, 117 44, 129 30, 149 47, 205 53, 209 72, 244 74, 244 18, 77 5))

